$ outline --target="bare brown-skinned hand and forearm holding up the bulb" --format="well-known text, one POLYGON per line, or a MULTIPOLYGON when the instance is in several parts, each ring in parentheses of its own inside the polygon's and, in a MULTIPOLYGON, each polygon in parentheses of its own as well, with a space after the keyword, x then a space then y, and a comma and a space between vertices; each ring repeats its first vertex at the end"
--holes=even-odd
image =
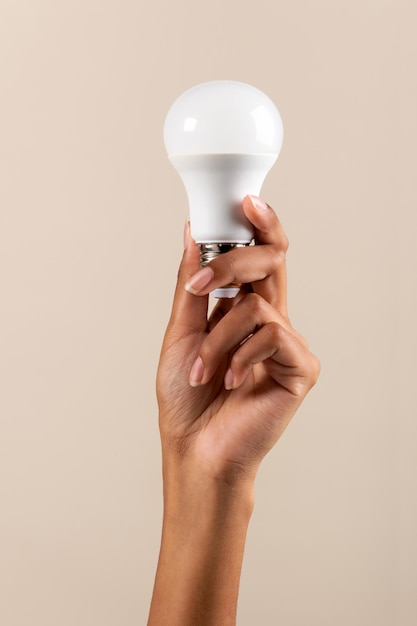
POLYGON ((247 196, 256 246, 200 269, 185 233, 157 374, 164 519, 148 626, 236 623, 259 465, 317 381, 319 362, 288 319, 288 240, 247 196), (208 317, 208 294, 242 285, 208 317))

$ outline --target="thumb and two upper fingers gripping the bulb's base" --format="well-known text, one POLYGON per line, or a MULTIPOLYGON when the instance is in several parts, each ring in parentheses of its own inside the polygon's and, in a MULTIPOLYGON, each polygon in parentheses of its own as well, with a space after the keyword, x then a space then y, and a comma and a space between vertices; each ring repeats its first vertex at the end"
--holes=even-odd
POLYGON ((168 327, 175 329, 176 334, 206 331, 208 294, 231 283, 242 284, 241 292, 233 301, 220 301, 210 320, 210 329, 248 291, 259 294, 287 317, 285 252, 288 241, 285 233, 274 211, 259 198, 247 196, 242 206, 254 226, 255 241, 260 245, 220 255, 205 268, 200 268, 198 246, 187 225, 168 327))

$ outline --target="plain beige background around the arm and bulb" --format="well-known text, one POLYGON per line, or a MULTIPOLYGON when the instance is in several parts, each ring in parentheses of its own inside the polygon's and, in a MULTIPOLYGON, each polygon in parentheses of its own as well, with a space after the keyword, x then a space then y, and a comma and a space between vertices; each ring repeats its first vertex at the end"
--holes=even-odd
POLYGON ((263 196, 323 368, 259 474, 238 623, 417 623, 415 9, 0 1, 2 626, 146 622, 186 217, 162 125, 217 78, 281 110, 263 196))

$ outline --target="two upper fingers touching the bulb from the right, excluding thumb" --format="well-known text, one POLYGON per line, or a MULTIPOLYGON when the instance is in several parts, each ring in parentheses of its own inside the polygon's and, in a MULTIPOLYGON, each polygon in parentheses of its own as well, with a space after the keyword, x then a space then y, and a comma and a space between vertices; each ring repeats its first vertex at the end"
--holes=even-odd
POLYGON ((255 241, 261 245, 220 255, 191 276, 185 288, 194 295, 207 295, 227 284, 251 284, 255 293, 286 316, 288 240, 276 214, 262 200, 247 196, 242 206, 255 228, 255 241))

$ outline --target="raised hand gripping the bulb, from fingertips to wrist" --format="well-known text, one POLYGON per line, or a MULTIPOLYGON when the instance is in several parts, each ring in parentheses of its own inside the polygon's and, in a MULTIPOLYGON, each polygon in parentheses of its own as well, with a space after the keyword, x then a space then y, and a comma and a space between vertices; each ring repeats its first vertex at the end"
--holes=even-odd
POLYGON ((287 238, 274 211, 247 196, 255 246, 199 267, 186 237, 157 376, 163 454, 211 478, 254 477, 319 375, 287 314, 287 238), (242 285, 208 318, 208 294, 242 285))

